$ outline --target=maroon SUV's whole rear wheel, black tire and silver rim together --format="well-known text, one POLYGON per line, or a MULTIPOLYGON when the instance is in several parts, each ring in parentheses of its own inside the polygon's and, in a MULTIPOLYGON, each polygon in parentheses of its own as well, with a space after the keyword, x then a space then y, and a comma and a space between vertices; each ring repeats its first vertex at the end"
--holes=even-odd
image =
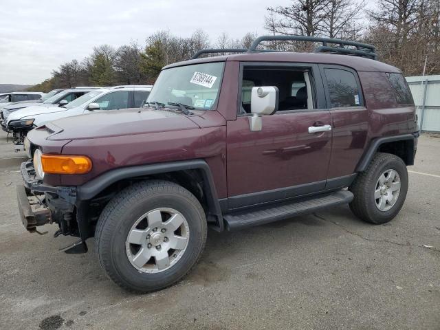
POLYGON ((357 217, 377 224, 391 221, 404 205, 408 191, 406 165, 396 155, 377 153, 349 190, 354 195, 350 208, 357 217))

